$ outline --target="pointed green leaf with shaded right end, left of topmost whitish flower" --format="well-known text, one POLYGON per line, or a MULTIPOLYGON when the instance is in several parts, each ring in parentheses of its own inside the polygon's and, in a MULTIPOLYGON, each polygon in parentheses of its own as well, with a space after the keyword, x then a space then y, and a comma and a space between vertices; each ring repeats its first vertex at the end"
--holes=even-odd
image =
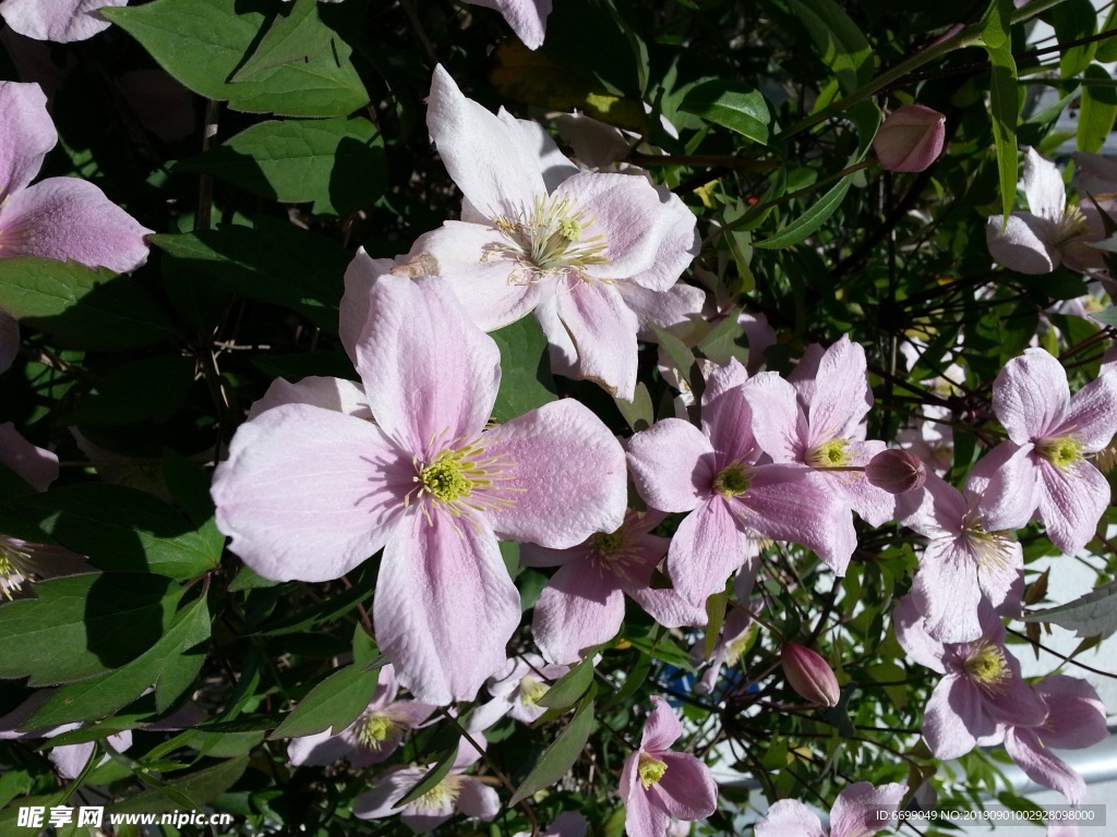
POLYGON ((361 117, 264 122, 180 166, 318 214, 370 206, 388 183, 384 141, 361 117))

